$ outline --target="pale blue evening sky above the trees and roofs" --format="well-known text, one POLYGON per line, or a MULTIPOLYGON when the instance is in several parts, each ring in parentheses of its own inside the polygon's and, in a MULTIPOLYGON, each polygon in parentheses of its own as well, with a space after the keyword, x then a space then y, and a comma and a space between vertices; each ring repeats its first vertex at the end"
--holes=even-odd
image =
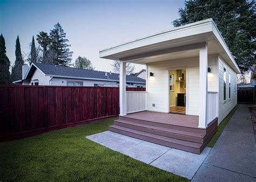
MULTIPOLYGON (((0 33, 3 33, 11 64, 15 61, 15 41, 29 52, 32 36, 62 25, 73 51, 72 62, 81 55, 99 71, 112 71, 111 60, 100 59, 99 50, 152 33, 171 29, 184 1, 43 1, 0 0, 0 33)), ((144 68, 136 65, 136 72, 144 68)))

